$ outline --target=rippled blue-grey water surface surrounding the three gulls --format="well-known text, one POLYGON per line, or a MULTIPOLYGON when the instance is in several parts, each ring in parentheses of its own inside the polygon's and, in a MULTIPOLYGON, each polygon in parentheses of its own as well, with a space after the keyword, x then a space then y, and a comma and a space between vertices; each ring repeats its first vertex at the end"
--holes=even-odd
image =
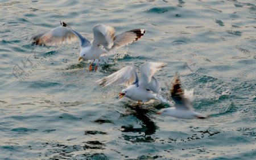
POLYGON ((255 1, 0 0, 0 159, 253 159, 256 114, 255 1), (79 44, 35 47, 31 36, 65 21, 145 28, 97 72, 78 62, 79 44), (135 107, 121 87, 96 80, 124 66, 165 62, 163 95, 179 71, 206 120, 135 107), (19 74, 17 75, 17 71, 19 74), (20 72, 23 71, 23 72, 20 72))

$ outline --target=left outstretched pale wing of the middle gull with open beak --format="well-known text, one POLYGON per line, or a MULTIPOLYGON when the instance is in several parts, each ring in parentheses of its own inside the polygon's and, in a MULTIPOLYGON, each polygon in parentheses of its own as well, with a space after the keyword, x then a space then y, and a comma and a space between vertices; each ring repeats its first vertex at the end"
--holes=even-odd
POLYGON ((97 80, 97 83, 100 83, 103 87, 108 85, 125 85, 128 87, 131 84, 138 84, 138 81, 135 69, 127 66, 117 72, 114 72, 112 75, 97 80))

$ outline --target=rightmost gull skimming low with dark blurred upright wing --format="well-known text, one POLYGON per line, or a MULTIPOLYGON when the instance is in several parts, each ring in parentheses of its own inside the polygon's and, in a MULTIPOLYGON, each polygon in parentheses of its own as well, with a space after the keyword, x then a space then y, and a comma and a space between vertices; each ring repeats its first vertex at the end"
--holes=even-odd
POLYGON ((195 111, 193 111, 191 100, 193 98, 193 90, 183 90, 181 89, 179 75, 174 77, 171 84, 171 97, 174 100, 174 107, 168 107, 166 109, 161 109, 156 114, 159 115, 170 115, 175 118, 181 119, 205 119, 208 116, 203 116, 195 111))

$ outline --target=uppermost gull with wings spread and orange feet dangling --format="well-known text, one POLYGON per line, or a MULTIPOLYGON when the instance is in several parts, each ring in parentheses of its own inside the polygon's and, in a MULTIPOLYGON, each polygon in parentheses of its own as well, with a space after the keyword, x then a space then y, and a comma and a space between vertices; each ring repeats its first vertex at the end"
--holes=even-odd
POLYGON ((134 41, 139 40, 144 33, 145 29, 133 29, 115 34, 115 29, 108 25, 98 24, 93 27, 94 39, 92 43, 83 37, 79 32, 75 31, 66 23, 60 21, 61 26, 51 29, 51 31, 38 34, 31 38, 32 45, 57 45, 66 42, 76 41, 80 42, 79 61, 92 60, 89 65, 89 71, 92 71, 92 64, 95 59, 98 62, 94 68, 97 70, 97 65, 100 62, 100 55, 109 53, 109 51, 116 50, 119 47, 129 45, 134 41))

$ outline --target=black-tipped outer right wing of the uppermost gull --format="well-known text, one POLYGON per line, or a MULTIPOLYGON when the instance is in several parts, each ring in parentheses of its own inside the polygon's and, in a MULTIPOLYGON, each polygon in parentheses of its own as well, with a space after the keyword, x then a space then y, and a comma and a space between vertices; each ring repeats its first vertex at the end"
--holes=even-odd
POLYGON ((139 40, 139 38, 141 38, 145 32, 145 29, 133 29, 131 31, 118 34, 114 37, 114 45, 112 49, 118 49, 119 47, 129 45, 134 41, 139 40))

